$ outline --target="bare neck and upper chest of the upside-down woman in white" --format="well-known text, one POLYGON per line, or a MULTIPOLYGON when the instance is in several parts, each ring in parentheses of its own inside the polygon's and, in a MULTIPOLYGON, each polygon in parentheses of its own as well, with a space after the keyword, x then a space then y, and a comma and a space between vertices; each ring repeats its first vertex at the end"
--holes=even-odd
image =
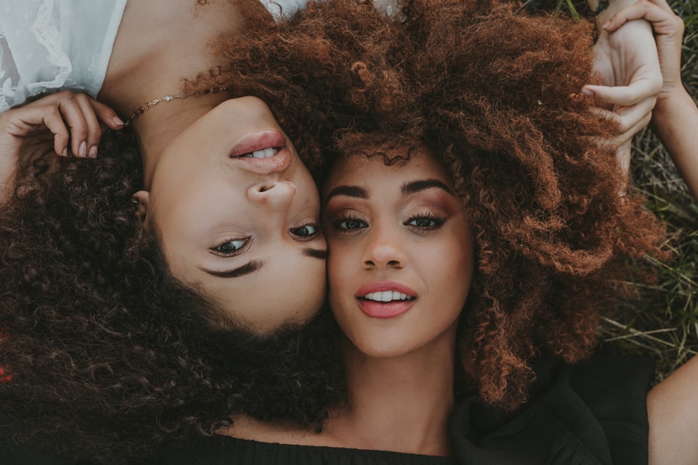
MULTIPOLYGON (((180 93, 182 78, 194 79, 213 68, 225 68, 227 61, 210 45, 218 37, 244 33, 244 11, 248 15, 268 15, 257 2, 251 6, 231 1, 209 1, 204 6, 195 3, 128 1, 98 100, 128 119, 145 102, 180 93)), ((274 24, 271 17, 269 22, 274 24)), ((225 97, 220 93, 160 103, 134 121, 132 129, 144 153, 148 176, 168 140, 225 97)), ((149 185, 149 177, 145 181, 149 185)))

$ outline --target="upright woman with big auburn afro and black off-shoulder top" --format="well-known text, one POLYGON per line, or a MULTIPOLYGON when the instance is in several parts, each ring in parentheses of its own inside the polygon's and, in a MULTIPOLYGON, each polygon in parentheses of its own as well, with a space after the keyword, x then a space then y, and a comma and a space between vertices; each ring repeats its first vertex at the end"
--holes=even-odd
POLYGON ((579 95, 591 40, 507 6, 337 0, 218 44, 229 88, 317 143, 348 398, 320 434, 233 416, 172 463, 647 462, 652 364, 593 354, 663 229, 590 137, 616 130, 579 95))

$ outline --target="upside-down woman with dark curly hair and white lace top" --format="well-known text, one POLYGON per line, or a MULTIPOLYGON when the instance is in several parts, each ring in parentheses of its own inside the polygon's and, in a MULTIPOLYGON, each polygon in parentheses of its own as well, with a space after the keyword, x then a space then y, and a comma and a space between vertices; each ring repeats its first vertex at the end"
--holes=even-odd
POLYGON ((223 412, 321 420, 341 378, 315 183, 263 102, 177 90, 224 63, 209 40, 272 17, 257 1, 2 6, 0 104, 91 95, 0 114, 3 438, 118 462, 223 412), (101 123, 124 127, 95 97, 131 115, 170 90, 135 139, 82 160, 101 123))

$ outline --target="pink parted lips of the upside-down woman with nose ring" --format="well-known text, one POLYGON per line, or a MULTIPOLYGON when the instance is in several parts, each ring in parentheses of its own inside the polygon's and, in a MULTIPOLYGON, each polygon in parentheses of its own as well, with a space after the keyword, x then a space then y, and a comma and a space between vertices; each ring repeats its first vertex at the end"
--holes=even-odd
POLYGON ((248 171, 269 174, 283 171, 291 162, 291 151, 286 145, 286 138, 279 130, 265 130, 248 135, 230 151, 230 158, 240 163, 248 171), (242 155, 265 148, 276 148, 277 152, 269 158, 247 158, 242 155))

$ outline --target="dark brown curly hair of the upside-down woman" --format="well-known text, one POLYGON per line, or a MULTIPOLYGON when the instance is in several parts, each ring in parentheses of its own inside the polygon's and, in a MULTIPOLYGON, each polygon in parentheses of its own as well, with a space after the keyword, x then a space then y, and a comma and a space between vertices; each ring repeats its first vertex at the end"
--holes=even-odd
POLYGON ((302 338, 211 326, 216 308, 145 232, 132 145, 112 135, 97 160, 39 160, 0 212, 0 443, 107 464, 235 413, 322 422, 343 398, 330 312, 302 338))

